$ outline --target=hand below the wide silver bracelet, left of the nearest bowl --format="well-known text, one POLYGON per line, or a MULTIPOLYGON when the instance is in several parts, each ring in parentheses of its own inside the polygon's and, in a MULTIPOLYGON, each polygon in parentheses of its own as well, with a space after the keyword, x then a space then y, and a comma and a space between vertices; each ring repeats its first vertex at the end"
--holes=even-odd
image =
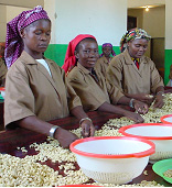
POLYGON ((58 128, 55 132, 55 139, 60 142, 62 147, 69 148, 71 143, 73 143, 78 137, 74 133, 58 128))

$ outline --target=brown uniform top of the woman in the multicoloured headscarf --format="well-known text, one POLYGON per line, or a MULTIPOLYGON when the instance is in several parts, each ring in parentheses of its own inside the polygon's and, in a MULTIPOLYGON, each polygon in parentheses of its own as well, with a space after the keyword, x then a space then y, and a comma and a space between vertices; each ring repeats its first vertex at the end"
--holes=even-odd
POLYGON ((125 93, 155 93, 158 87, 164 86, 154 63, 142 56, 138 69, 128 49, 111 59, 107 68, 107 80, 125 93))

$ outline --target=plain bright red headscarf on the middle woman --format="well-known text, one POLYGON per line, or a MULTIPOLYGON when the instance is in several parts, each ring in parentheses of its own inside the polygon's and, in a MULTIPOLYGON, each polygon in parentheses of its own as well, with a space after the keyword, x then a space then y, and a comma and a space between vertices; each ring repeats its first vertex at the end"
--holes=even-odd
POLYGON ((62 68, 65 70, 66 74, 71 71, 73 67, 76 65, 76 57, 75 57, 74 52, 75 52, 77 44, 86 37, 95 38, 95 36, 90 34, 79 34, 68 43, 64 65, 62 66, 62 68))

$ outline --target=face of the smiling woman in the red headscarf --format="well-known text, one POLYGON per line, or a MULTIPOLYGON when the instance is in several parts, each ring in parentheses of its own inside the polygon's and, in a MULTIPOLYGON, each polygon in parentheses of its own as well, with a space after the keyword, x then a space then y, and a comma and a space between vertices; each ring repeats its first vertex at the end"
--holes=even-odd
POLYGON ((75 56, 80 65, 92 70, 99 57, 97 42, 92 40, 82 41, 75 56))

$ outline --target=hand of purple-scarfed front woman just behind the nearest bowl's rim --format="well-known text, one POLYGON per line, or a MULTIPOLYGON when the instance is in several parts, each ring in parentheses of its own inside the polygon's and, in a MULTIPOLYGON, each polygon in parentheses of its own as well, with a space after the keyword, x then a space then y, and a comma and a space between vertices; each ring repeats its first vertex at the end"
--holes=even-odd
POLYGON ((80 125, 83 137, 89 137, 95 135, 95 126, 93 125, 92 121, 84 120, 80 125))

